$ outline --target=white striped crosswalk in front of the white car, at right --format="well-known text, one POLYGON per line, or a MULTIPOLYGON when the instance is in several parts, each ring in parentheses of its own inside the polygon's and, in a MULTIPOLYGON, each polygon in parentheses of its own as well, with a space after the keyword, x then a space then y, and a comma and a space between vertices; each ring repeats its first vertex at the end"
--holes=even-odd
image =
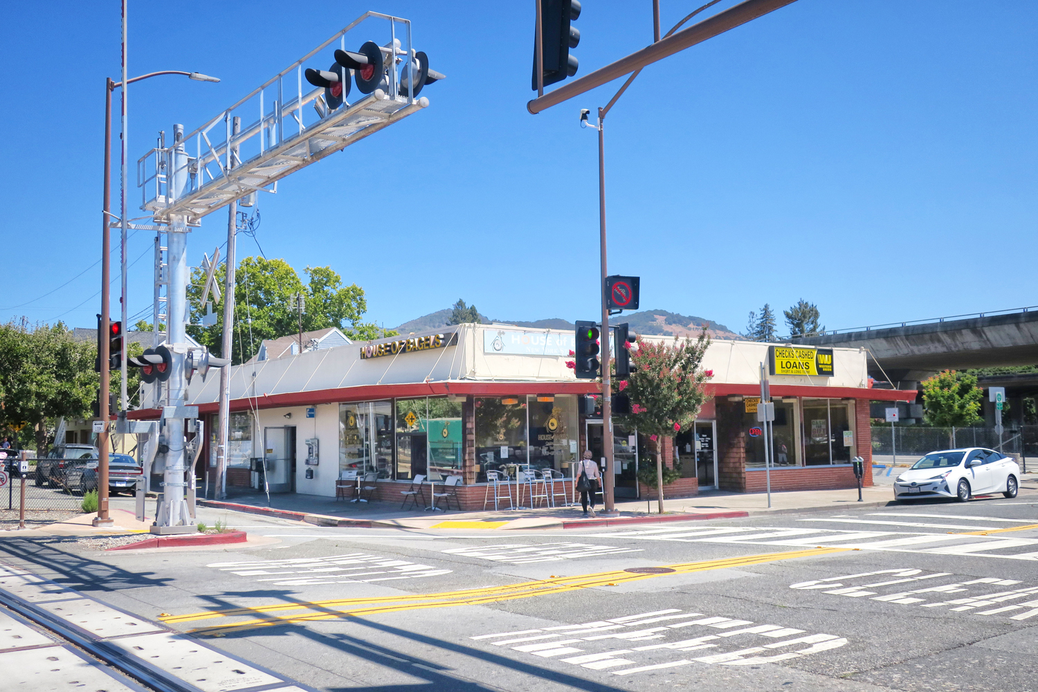
POLYGON ((1038 560, 1038 538, 1007 534, 1038 528, 1034 520, 922 513, 834 515, 802 526, 671 526, 595 533, 599 538, 730 545, 849 548, 1013 560, 1038 560), (954 520, 954 521, 948 521, 954 520), (924 530, 928 529, 928 530, 924 530))

